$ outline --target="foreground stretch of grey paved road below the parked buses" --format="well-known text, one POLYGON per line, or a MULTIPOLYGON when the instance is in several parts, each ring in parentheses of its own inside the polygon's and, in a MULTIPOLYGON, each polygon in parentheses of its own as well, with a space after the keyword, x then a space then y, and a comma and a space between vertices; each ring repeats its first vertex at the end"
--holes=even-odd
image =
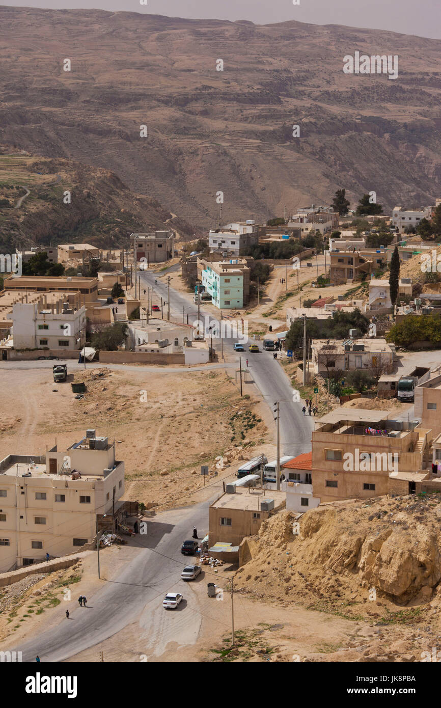
MULTIPOLYGON (((88 600, 88 608, 79 607, 76 586, 73 586, 72 600, 62 603, 59 624, 21 646, 13 646, 16 651, 23 652, 23 661, 35 662, 37 654, 45 663, 75 656, 120 632, 127 624, 134 622, 144 626, 144 610, 147 610, 149 624, 156 628, 155 648, 156 644, 164 645, 166 641, 186 644, 194 634, 197 636, 202 616, 197 612, 188 585, 180 577, 185 564, 195 560, 182 556, 180 550, 182 542, 191 538, 193 526, 197 527, 200 538, 207 533, 207 508, 221 493, 222 484, 219 482, 214 489, 216 492, 210 501, 187 509, 166 511, 149 520, 147 536, 138 534, 134 539, 142 550, 118 578, 103 581, 102 588, 88 600), (184 599, 188 598, 187 606, 183 604, 179 612, 178 633, 173 620, 176 612, 166 612, 161 605, 168 592, 181 592, 184 599), (69 619, 64 617, 67 609, 69 619), (171 636, 167 636, 168 633, 171 636)), ((146 642, 148 644, 148 638, 146 642)), ((13 639, 9 644, 13 645, 13 639)), ((139 653, 142 653, 141 648, 139 653)))

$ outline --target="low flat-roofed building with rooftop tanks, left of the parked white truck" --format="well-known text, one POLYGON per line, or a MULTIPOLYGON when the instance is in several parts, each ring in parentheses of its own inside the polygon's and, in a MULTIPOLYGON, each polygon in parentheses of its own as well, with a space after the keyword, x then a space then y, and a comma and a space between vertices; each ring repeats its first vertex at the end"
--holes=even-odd
POLYGON ((311 361, 314 374, 328 378, 335 371, 376 369, 391 371, 394 354, 385 339, 314 339, 311 361))

